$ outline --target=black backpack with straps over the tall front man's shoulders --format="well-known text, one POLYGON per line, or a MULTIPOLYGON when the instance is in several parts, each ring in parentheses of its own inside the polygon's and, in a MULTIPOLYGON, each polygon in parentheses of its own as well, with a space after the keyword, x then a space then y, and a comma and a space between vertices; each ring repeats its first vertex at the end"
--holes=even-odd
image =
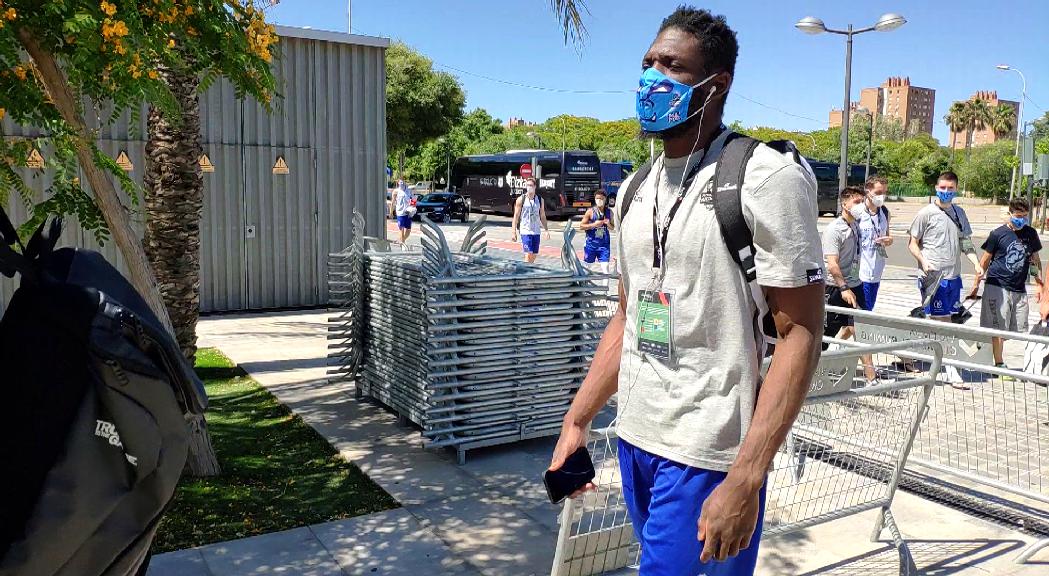
MULTIPOLYGON (((725 140, 721 155, 718 157, 718 168, 714 170, 711 192, 714 216, 718 218, 722 238, 724 238, 732 260, 740 266, 740 272, 750 289, 751 299, 757 307, 757 321, 762 326, 765 341, 768 344, 774 344, 777 337, 775 321, 769 314, 765 293, 757 283, 757 266, 754 262, 754 234, 747 226, 747 220, 743 215, 743 179, 747 172, 747 163, 750 162, 750 156, 754 154, 754 150, 761 144, 761 141, 752 137, 735 132, 730 133, 725 140)), ((766 146, 780 154, 791 154, 794 162, 805 166, 801 155, 792 142, 773 141, 766 143, 766 146)), ((626 212, 630 209, 634 196, 641 184, 648 177, 651 168, 652 163, 649 159, 630 178, 620 204, 620 221, 626 218, 626 212)))

